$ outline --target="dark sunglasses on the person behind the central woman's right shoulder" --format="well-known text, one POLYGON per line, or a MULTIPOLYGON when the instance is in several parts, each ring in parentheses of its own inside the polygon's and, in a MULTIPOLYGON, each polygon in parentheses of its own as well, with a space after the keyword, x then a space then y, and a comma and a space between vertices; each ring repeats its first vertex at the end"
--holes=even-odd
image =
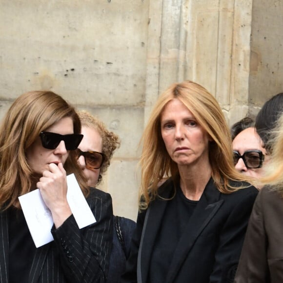
POLYGON ((236 165, 240 158, 247 168, 255 169, 263 166, 264 154, 261 150, 247 150, 240 155, 238 151, 233 151, 234 165, 236 165))

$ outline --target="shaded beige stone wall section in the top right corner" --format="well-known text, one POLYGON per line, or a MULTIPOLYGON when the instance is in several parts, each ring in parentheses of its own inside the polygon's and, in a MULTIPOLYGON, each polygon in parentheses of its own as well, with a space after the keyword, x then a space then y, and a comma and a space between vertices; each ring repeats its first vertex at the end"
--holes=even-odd
POLYGON ((283 92, 283 1, 253 1, 249 112, 283 92))

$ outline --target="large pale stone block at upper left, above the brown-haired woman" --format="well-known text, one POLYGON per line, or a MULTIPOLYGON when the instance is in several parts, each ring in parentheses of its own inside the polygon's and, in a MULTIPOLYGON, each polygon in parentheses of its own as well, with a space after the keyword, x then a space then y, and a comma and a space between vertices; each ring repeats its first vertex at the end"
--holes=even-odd
POLYGON ((143 103, 147 21, 148 0, 1 0, 1 96, 52 89, 74 103, 143 103))

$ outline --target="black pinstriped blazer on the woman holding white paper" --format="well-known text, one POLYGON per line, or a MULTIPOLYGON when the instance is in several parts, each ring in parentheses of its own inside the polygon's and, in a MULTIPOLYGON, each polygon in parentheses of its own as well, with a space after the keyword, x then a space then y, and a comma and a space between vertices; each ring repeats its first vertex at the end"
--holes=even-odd
MULTIPOLYGON (((58 229, 54 241, 37 248, 29 283, 105 282, 113 237, 111 196, 91 188, 86 199, 96 223, 79 229, 70 216, 58 229)), ((9 214, 0 212, 0 282, 9 282, 9 214)))

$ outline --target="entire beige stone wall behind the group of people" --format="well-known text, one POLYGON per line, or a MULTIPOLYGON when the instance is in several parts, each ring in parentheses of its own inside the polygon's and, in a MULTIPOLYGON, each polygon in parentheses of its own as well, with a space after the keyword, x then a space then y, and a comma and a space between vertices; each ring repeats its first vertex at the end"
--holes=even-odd
POLYGON ((0 0, 0 119, 52 90, 121 138, 103 177, 114 212, 137 215, 140 141, 158 95, 190 79, 231 125, 283 91, 281 0, 0 0))

